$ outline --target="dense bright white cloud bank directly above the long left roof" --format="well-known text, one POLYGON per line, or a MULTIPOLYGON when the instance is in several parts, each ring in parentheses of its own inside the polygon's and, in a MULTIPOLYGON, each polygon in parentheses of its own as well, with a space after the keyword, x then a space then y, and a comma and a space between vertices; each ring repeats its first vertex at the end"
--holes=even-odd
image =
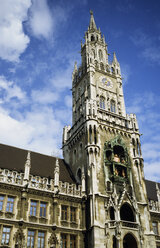
POLYGON ((51 108, 37 106, 25 116, 20 114, 19 120, 0 108, 0 119, 1 143, 61 156, 63 124, 55 119, 51 108))

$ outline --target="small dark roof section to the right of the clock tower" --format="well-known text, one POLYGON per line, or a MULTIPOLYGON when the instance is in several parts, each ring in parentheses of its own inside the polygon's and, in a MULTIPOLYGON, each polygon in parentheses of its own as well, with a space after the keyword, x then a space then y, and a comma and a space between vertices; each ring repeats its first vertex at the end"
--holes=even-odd
POLYGON ((148 200, 158 201, 156 184, 160 189, 160 183, 145 180, 148 200))

